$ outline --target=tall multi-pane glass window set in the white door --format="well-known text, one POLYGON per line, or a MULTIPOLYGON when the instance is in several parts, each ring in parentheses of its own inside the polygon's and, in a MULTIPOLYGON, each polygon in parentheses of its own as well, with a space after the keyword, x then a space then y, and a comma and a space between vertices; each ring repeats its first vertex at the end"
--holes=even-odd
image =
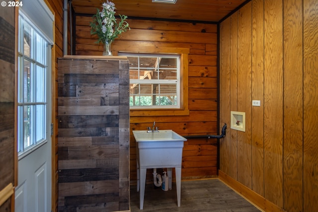
POLYGON ((48 42, 19 14, 18 152, 46 141, 48 42))

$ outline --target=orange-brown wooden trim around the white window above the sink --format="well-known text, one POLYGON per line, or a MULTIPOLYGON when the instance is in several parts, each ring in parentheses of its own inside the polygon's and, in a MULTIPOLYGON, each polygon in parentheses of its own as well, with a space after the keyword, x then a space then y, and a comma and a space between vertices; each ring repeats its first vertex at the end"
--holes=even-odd
MULTIPOLYGON (((190 50, 188 48, 179 48, 179 47, 160 47, 160 46, 143 46, 138 45, 132 47, 131 45, 114 45, 112 46, 112 52, 114 56, 126 56, 129 61, 131 61, 134 57, 140 57, 140 56, 151 56, 151 57, 166 57, 166 56, 177 56, 179 59, 178 61, 178 83, 179 88, 176 88, 177 93, 177 101, 179 101, 179 105, 149 105, 149 106, 131 106, 130 107, 130 116, 185 116, 189 115, 189 101, 188 101, 188 64, 189 64, 189 53, 190 50)), ((136 59, 135 59, 136 60, 136 59)), ((157 59, 156 59, 157 60, 157 59)), ((132 65, 130 63, 129 68, 132 68, 132 65)), ((136 69, 135 69, 136 70, 136 69)), ((138 70, 138 69, 137 69, 138 70)), ((153 69, 154 70, 154 69, 153 69)), ((160 79, 160 77, 159 77, 160 79)), ((161 77, 162 79, 162 77, 161 77)), ((167 78, 166 78, 167 79, 167 78)), ((132 80, 130 79, 130 84, 132 83, 132 80)), ((146 82, 144 80, 144 82, 146 82)), ((175 83, 175 82, 174 82, 175 83)), ((158 81, 155 82, 155 84, 158 84, 158 81)), ((166 85, 165 83, 161 83, 163 85, 166 85)), ((172 83, 171 83, 172 84, 172 83)), ((170 87, 172 86, 170 84, 170 87)), ((146 86, 146 85, 145 85, 146 86)), ((142 89, 141 89, 142 90, 142 89)), ((157 89, 156 89, 157 92, 157 89)), ((159 91, 158 91, 159 92, 159 91)), ((133 92, 131 92, 131 99, 133 92)), ((169 93, 170 94, 170 93, 169 93)), ((152 95, 149 95, 150 96, 152 95)), ((160 93, 160 96, 162 96, 162 92, 160 93)), ((164 96, 164 95, 163 95, 164 96)), ((138 96, 137 100, 138 100, 138 96)), ((146 98, 146 97, 145 97, 146 98)), ((153 99, 153 97, 151 97, 153 99)), ((169 97, 171 98, 171 95, 169 97)), ((172 100, 173 101, 173 100, 172 100)), ((171 101, 171 102, 172 102, 171 101)), ((174 99, 175 101, 175 99, 174 99)), ((133 103, 132 103, 133 104, 133 103)))

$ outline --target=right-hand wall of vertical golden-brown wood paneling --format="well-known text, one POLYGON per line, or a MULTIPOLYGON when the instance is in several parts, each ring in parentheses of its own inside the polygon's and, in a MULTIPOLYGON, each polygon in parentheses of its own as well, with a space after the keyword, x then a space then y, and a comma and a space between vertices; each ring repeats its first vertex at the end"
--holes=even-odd
POLYGON ((247 127, 220 169, 288 212, 318 210, 317 26, 318 0, 251 0, 220 24, 220 124, 237 108, 247 127))

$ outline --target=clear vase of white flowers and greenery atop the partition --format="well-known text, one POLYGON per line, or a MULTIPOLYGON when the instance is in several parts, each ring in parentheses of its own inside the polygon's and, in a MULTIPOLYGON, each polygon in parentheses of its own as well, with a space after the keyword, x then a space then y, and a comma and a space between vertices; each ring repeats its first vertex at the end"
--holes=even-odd
POLYGON ((104 44, 103 55, 111 56, 111 44, 122 32, 130 30, 129 24, 126 21, 126 15, 119 15, 120 19, 117 21, 115 17, 115 4, 107 0, 102 3, 101 11, 96 8, 97 12, 93 15, 93 22, 90 22, 90 34, 97 35, 96 43, 104 44))

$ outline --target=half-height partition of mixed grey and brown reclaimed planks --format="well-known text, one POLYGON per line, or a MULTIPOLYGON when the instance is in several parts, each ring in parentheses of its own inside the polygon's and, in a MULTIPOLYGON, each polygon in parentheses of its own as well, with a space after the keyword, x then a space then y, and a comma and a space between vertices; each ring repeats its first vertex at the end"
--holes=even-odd
POLYGON ((59 212, 129 210, 127 58, 67 56, 58 70, 59 212))

